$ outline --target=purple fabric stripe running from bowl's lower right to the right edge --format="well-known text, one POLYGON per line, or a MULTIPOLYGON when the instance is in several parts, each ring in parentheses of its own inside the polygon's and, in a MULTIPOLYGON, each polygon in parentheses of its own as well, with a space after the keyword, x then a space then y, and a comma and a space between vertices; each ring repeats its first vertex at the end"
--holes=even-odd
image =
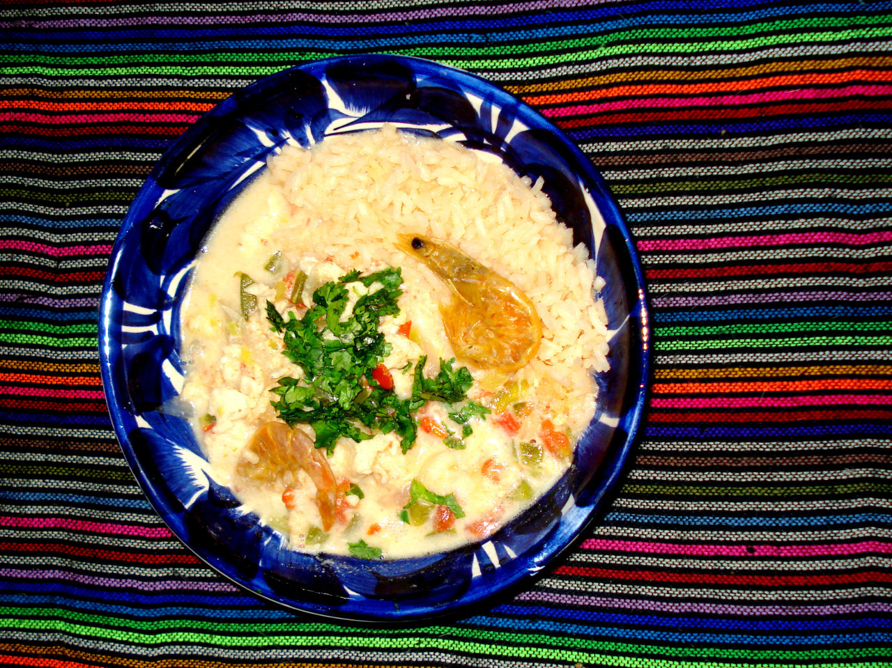
POLYGON ((863 614, 892 612, 892 601, 871 601, 864 603, 844 603, 833 606, 808 606, 802 603, 790 603, 787 606, 741 606, 732 603, 698 603, 686 601, 639 600, 637 598, 599 598, 573 594, 560 594, 549 591, 524 591, 515 598, 518 601, 539 601, 561 606, 584 606, 599 608, 623 608, 627 610, 653 611, 670 614, 719 614, 722 616, 769 615, 769 616, 805 616, 822 614, 863 614))

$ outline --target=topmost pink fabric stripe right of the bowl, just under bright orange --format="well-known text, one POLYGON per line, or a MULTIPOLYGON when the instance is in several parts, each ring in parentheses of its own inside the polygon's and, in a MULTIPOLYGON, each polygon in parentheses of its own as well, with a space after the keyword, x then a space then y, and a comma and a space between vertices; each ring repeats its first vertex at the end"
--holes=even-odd
POLYGON ((645 111, 647 109, 680 108, 680 107, 735 107, 749 104, 780 103, 789 100, 825 100, 832 98, 848 98, 853 95, 889 95, 892 86, 863 86, 861 84, 843 88, 793 88, 788 90, 772 90, 764 93, 750 95, 704 95, 701 97, 687 97, 673 95, 665 97, 643 97, 637 95, 623 100, 599 102, 591 104, 576 104, 571 107, 558 107, 546 110, 546 115, 560 116, 587 116, 604 113, 606 111, 623 111, 634 109, 645 111))

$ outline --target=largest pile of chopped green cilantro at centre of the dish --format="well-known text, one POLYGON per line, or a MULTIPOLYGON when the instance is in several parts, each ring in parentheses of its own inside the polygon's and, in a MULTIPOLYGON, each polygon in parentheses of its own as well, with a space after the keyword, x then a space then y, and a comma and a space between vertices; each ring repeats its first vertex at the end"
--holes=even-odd
POLYGON ((289 311, 285 319, 267 302, 269 326, 283 335, 282 354, 301 367, 304 376, 280 378, 272 390, 277 395, 272 406, 288 425, 312 426, 316 447, 325 448, 328 454, 334 452, 341 436, 365 441, 376 431, 396 433, 402 451, 407 452, 417 438, 413 413, 428 400, 464 400, 473 382, 466 367, 452 368, 452 359, 441 360, 440 372, 426 378, 424 357, 416 365, 412 395, 407 400, 401 400, 392 389, 368 382, 367 377, 390 353, 390 344, 378 326, 384 316, 399 315, 401 283, 399 268, 385 268, 368 276, 351 271, 320 285, 302 318, 289 311), (351 315, 343 318, 347 286, 352 283, 372 289, 361 294, 351 315))

